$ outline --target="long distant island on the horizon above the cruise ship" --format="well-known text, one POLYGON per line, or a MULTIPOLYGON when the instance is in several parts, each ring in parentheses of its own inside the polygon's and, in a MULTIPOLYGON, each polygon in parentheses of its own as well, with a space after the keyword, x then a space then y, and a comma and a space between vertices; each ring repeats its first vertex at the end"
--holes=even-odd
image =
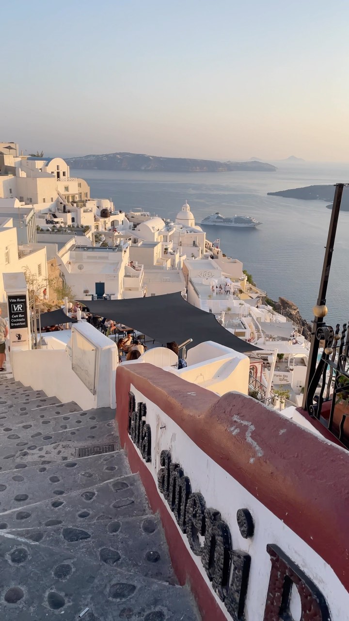
POLYGON ((276 166, 261 161, 214 161, 158 157, 141 153, 105 153, 65 158, 71 168, 84 170, 143 170, 166 173, 224 173, 227 171, 261 171, 273 173, 276 166))

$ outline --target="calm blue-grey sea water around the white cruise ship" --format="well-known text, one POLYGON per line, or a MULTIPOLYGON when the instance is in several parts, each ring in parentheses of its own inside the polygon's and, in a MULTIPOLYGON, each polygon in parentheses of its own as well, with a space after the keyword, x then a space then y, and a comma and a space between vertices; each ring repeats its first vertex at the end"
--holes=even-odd
MULTIPOLYGON (((204 227, 207 237, 220 237, 227 256, 243 261, 258 286, 273 299, 284 296, 299 306, 306 319, 319 291, 330 209, 324 201, 299 201, 267 196, 268 192, 312 184, 349 181, 349 166, 280 167, 276 173, 138 173, 76 171, 91 187, 91 196, 111 198, 116 209, 142 207, 174 218, 185 199, 199 224, 206 215, 252 215, 257 229, 204 227)), ((346 192, 349 189, 345 189, 346 192)), ((334 193, 334 188, 333 188, 334 193)), ((329 323, 349 319, 349 212, 340 214, 327 294, 329 323)))

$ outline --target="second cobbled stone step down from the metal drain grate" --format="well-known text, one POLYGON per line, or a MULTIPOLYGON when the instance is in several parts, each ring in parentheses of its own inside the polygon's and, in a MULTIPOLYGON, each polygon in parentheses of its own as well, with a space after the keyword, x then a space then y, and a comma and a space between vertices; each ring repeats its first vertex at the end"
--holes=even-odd
MULTIPOLYGON (((104 455, 102 467, 108 468, 111 465, 111 454, 104 455)), ((86 458, 84 458, 86 459, 86 458)), ((48 467, 48 466, 47 466, 48 467)), ((111 471, 114 472, 115 471, 111 471)), ((14 472, 13 475, 23 474, 14 472)), ((81 476, 91 481, 93 473, 86 468, 81 476)), ((52 476, 50 474, 50 476, 52 476)), ((25 510, 30 513, 23 522, 16 519, 18 509, 12 509, 0 515, 0 530, 16 529, 21 527, 36 529, 41 533, 48 520, 61 520, 62 524, 74 524, 76 520, 81 524, 89 522, 99 522, 100 520, 118 520, 130 517, 150 517, 150 522, 144 528, 152 532, 152 520, 154 518, 148 505, 147 497, 138 474, 126 474, 105 483, 97 483, 92 487, 86 488, 84 494, 81 489, 78 491, 63 494, 63 497, 55 497, 25 505, 25 510), (114 488, 113 488, 114 484, 114 488), (93 496, 94 494, 94 496, 93 496), (84 514, 82 518, 79 514, 84 514), (88 515, 86 515, 88 514, 88 515), (150 514, 150 515, 149 515, 150 514)), ((22 508, 23 510, 23 508, 22 508)), ((155 518, 154 518, 155 519, 155 518)), ((37 535, 38 540, 41 535, 37 535)))

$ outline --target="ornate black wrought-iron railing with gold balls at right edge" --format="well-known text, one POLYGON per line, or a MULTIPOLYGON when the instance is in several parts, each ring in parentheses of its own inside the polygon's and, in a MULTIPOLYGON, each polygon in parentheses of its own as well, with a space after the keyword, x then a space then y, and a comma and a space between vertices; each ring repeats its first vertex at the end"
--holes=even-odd
POLYGON ((323 324, 315 338, 322 355, 310 378, 306 410, 318 419, 344 446, 349 448, 349 330, 340 324, 335 330, 323 324))

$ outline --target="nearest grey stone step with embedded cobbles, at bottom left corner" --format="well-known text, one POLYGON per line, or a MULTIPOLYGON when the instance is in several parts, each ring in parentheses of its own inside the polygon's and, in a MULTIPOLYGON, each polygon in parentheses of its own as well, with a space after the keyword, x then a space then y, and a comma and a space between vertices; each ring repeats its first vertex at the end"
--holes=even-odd
POLYGON ((2 617, 11 621, 47 621, 60 614, 78 621, 86 608, 83 621, 199 619, 185 587, 93 563, 78 551, 0 535, 0 571, 2 617))

